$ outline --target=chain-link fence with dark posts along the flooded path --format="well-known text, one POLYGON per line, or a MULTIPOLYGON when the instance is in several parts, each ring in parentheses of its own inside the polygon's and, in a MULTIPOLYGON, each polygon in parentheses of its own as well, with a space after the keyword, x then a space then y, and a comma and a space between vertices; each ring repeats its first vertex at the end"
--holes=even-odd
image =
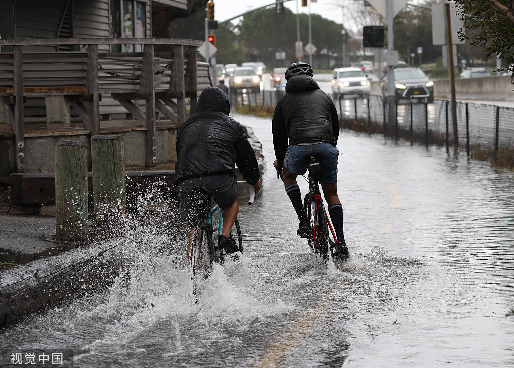
MULTIPOLYGON (((396 104, 396 121, 387 121, 388 107, 380 95, 335 101, 344 126, 429 144, 452 145, 452 101, 396 104)), ((470 149, 514 149, 514 108, 458 101, 455 105, 458 145, 470 149)))

